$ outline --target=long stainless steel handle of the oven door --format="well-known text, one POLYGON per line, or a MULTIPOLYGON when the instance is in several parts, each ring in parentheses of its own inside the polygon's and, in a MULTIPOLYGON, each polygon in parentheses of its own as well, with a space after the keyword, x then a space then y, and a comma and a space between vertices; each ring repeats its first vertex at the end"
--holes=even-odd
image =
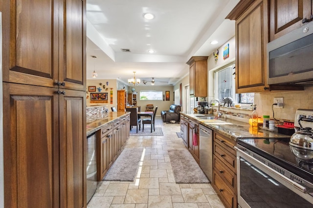
POLYGON ((243 155, 245 155, 246 157, 248 157, 249 159, 253 160, 254 162, 256 162, 257 164, 259 164, 260 166, 262 166, 263 168, 269 170, 270 172, 274 173, 276 176, 282 178, 284 181, 288 182, 289 184, 291 184, 293 187, 295 187, 296 189, 302 191, 303 193, 308 193, 309 191, 311 191, 312 189, 305 187, 303 185, 298 184, 297 182, 292 181, 291 179, 289 179, 288 177, 286 177, 285 175, 277 172, 274 169, 269 168, 267 165, 261 163, 260 161, 256 160, 254 157, 250 156, 249 154, 247 154, 246 152, 242 151, 240 148, 234 146, 234 149, 240 153, 242 153, 243 155))

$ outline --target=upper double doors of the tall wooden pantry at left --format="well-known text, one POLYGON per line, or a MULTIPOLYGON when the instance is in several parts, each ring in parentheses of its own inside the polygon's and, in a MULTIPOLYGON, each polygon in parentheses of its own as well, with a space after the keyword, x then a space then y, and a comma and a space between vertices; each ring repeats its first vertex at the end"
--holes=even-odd
POLYGON ((86 91, 86 1, 1 3, 3 81, 86 91))

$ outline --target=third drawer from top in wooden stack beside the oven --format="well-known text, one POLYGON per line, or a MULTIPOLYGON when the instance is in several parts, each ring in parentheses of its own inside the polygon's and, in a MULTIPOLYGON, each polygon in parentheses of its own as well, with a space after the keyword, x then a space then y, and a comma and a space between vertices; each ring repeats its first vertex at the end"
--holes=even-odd
POLYGON ((221 175, 221 177, 227 183, 229 188, 231 188, 232 191, 236 193, 237 192, 236 191, 237 189, 236 174, 232 170, 227 168, 227 166, 225 166, 224 163, 215 155, 213 155, 213 167, 214 167, 214 170, 217 171, 221 175))

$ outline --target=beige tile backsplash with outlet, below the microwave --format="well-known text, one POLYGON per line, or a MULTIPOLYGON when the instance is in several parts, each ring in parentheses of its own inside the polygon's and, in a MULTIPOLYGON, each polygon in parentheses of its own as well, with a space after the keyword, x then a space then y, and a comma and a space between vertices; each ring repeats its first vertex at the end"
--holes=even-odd
POLYGON ((313 87, 305 87, 304 91, 271 91, 254 95, 254 103, 257 105, 259 116, 269 115, 271 118, 273 117, 274 97, 284 98, 283 108, 273 108, 274 117, 280 121, 294 122, 297 109, 313 109, 313 87))

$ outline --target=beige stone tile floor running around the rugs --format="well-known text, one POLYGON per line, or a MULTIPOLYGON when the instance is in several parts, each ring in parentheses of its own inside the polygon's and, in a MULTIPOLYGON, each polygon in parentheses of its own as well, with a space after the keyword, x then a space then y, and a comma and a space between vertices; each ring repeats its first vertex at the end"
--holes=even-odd
POLYGON ((224 208, 210 184, 175 183, 167 150, 185 148, 180 126, 156 117, 156 127, 163 136, 130 136, 125 145, 144 148, 134 182, 99 182, 88 208, 224 208))

